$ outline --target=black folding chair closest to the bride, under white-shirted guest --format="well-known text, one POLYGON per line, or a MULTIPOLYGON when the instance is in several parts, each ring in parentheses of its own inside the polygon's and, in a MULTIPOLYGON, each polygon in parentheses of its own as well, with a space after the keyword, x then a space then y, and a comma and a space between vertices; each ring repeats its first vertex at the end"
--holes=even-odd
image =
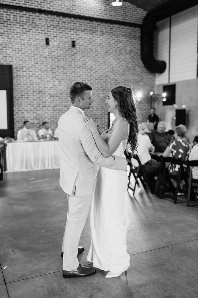
POLYGON ((137 179, 139 178, 140 181, 142 182, 142 185, 143 185, 144 189, 147 188, 147 186, 146 186, 146 184, 147 184, 148 187, 150 188, 151 193, 154 193, 153 187, 152 187, 152 185, 151 185, 151 183, 150 183, 149 178, 148 178, 147 175, 155 176, 156 175, 156 171, 146 172, 144 170, 144 166, 142 165, 142 163, 141 163, 141 161, 139 159, 139 156, 136 154, 135 156, 133 156, 133 158, 135 158, 138 161, 138 164, 139 165, 138 165, 137 168, 131 167, 131 171, 132 171, 133 176, 135 178, 135 185, 134 185, 134 188, 132 188, 130 186, 130 181, 129 181, 127 190, 128 189, 133 190, 133 195, 134 195, 135 189, 136 189, 136 184, 138 184, 137 179))

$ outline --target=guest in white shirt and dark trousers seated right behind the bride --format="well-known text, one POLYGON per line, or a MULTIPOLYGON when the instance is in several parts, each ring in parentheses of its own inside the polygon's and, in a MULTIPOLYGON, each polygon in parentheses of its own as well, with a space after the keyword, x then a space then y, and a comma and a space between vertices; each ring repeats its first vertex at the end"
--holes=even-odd
MULTIPOLYGON (((138 125, 139 134, 137 136, 137 154, 139 156, 139 159, 144 165, 144 169, 146 172, 148 171, 158 171, 160 167, 160 162, 156 162, 155 159, 152 159, 149 152, 154 152, 155 147, 151 144, 149 136, 147 136, 145 133, 147 131, 147 127, 144 124, 138 125)), ((137 161, 136 161, 137 162, 137 161)), ((132 159, 132 164, 133 159, 132 159)), ((137 166, 137 164, 134 164, 134 166, 137 166)))

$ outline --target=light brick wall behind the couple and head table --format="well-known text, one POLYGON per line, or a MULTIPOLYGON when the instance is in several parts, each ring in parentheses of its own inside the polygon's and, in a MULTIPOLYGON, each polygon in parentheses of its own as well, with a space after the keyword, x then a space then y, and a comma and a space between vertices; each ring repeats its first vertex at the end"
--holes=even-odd
MULTIPOLYGON (((30 7, 38 4, 38 1, 1 2, 28 3, 30 7)), ((39 1, 40 8, 48 9, 53 9, 55 3, 54 10, 59 8, 56 2, 60 9, 64 8, 62 2, 75 3, 79 9, 76 14, 84 14, 88 8, 83 4, 90 1, 45 1, 45 6, 42 2, 39 1)), ((111 1, 98 2, 106 9, 108 2, 110 12, 115 9, 109 4, 111 1)), ((128 7, 131 10, 125 20, 133 14, 134 7, 131 4, 128 7)), ((136 11, 144 16, 144 11, 137 8, 136 11)), ((107 12, 104 15, 109 18, 107 12)), ((59 117, 70 107, 69 88, 76 81, 92 86, 94 104, 86 114, 98 121, 102 130, 108 126, 105 100, 112 88, 124 85, 145 92, 154 89, 155 75, 144 68, 140 58, 139 28, 10 9, 0 9, 0 20, 0 64, 13 67, 15 137, 26 119, 36 131, 45 120, 54 131, 59 117), (49 46, 45 44, 46 37, 49 46), (72 40, 76 41, 75 48, 72 40)), ((149 103, 142 101, 139 105, 144 120, 149 103)))

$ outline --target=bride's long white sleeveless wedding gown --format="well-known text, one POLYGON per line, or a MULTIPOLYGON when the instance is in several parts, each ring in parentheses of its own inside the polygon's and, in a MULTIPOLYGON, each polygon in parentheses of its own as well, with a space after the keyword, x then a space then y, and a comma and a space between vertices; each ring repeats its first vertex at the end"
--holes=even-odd
MULTIPOLYGON (((111 132, 107 130, 101 137, 107 142, 111 132)), ((128 138, 122 140, 113 155, 123 156, 127 141, 128 138)), ((91 246, 87 260, 101 270, 123 272, 130 266, 126 246, 127 184, 128 175, 125 171, 105 167, 98 170, 90 209, 91 246)))

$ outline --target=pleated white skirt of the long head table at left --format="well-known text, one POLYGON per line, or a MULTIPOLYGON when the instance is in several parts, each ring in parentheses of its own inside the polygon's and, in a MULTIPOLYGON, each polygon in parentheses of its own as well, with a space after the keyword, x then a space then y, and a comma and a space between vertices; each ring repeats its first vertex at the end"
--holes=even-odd
POLYGON ((7 172, 60 168, 59 141, 13 142, 7 144, 7 172))

